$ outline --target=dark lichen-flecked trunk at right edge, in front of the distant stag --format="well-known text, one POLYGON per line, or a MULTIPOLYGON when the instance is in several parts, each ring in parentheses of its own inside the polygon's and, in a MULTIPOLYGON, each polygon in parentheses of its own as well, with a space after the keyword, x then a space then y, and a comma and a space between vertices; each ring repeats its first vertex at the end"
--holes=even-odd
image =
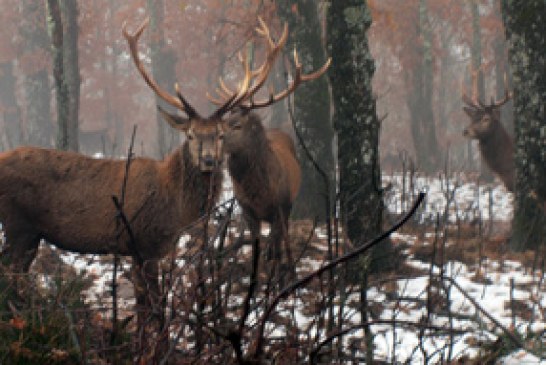
POLYGON ((502 0, 514 80, 516 192, 511 247, 546 243, 546 1, 502 0))

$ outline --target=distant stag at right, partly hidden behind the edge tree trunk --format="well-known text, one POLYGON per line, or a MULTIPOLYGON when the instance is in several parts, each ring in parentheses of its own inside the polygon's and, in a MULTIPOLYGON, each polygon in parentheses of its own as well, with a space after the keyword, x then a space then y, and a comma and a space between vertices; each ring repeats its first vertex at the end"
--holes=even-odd
POLYGON ((511 98, 505 83, 504 98, 487 105, 478 97, 477 72, 472 73, 472 97, 463 89, 463 108, 470 117, 470 125, 463 131, 467 138, 478 140, 480 154, 487 166, 499 176, 506 189, 514 191, 514 143, 500 121, 500 108, 511 98))

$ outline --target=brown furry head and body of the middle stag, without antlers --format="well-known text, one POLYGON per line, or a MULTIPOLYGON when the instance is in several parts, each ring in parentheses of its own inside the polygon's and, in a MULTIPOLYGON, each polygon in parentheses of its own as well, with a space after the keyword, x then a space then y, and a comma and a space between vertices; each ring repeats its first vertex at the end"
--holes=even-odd
POLYGON ((260 235, 262 221, 276 259, 280 245, 288 247, 288 218, 301 183, 301 170, 290 136, 278 129, 265 130, 256 113, 240 110, 225 123, 224 152, 235 198, 243 209, 252 240, 260 235))

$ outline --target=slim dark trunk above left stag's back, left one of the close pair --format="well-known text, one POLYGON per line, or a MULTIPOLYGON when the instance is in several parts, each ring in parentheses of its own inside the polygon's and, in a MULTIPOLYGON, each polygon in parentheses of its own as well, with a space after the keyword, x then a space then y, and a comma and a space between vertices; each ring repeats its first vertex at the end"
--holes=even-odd
POLYGON ((64 73, 64 34, 61 7, 58 0, 48 0, 51 22, 51 44, 53 53, 53 78, 57 99, 57 148, 67 151, 68 146, 68 85, 64 73))

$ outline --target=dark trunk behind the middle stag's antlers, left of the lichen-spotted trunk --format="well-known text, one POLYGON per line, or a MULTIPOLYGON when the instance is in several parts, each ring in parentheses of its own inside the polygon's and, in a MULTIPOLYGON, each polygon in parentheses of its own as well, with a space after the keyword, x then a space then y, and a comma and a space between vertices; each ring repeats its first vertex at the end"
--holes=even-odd
MULTIPOLYGON (((316 1, 277 0, 277 12, 289 28, 288 41, 284 47, 287 57, 292 59, 292 50, 297 48, 303 72, 320 68, 326 61, 321 40, 316 1)), ((328 188, 305 153, 299 148, 302 166, 302 188, 292 213, 296 217, 325 218, 325 194, 334 189, 334 157, 332 151, 333 129, 330 121, 330 95, 326 77, 304 83, 294 93, 295 126, 307 143, 311 154, 326 173, 328 188), (327 190, 328 189, 328 190, 327 190)))

